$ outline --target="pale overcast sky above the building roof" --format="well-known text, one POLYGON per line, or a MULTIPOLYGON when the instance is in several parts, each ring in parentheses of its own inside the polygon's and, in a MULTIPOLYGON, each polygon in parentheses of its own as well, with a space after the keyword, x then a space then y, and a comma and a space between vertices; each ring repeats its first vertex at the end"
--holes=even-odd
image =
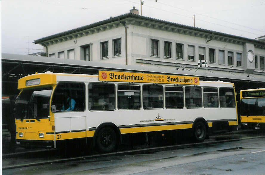
MULTIPOLYGON (((3 53, 35 53, 33 40, 123 15, 140 0, 2 0, 3 53)), ((265 35, 265 0, 144 0, 142 15, 255 39, 265 35)))

